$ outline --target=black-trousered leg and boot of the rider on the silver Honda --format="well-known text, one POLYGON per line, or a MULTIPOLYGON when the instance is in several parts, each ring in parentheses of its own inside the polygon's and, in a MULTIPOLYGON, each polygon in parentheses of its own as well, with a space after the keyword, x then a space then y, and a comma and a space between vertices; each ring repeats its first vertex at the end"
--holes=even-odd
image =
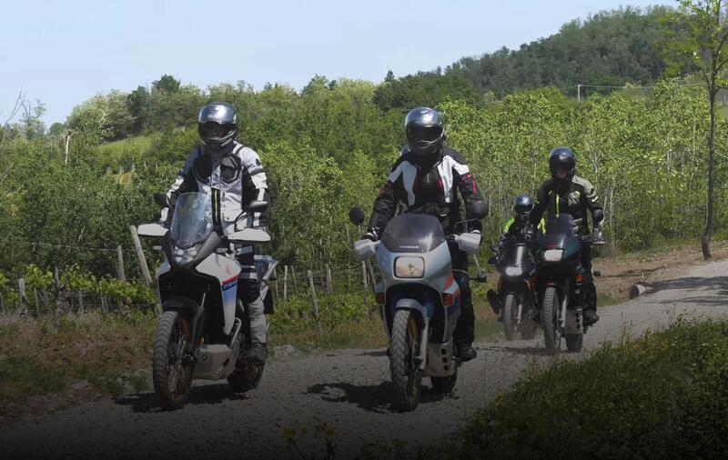
POLYGON ((452 338, 460 359, 468 361, 477 355, 472 348, 472 342, 475 340, 475 313, 470 292, 468 255, 460 251, 457 245, 450 245, 450 257, 452 259, 452 276, 460 286, 460 317, 458 317, 458 325, 455 326, 452 338))

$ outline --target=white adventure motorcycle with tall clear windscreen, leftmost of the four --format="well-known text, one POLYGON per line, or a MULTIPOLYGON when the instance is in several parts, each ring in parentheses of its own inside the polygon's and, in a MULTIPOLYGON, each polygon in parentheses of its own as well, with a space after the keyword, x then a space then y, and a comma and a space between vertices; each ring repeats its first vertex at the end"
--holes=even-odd
MULTIPOLYGON (((166 205, 164 195, 156 195, 166 205)), ((264 209, 254 201, 247 211, 264 209)), ((233 245, 265 243, 264 230, 245 228, 223 235, 213 225, 212 201, 201 193, 179 195, 170 228, 139 225, 140 236, 163 238, 165 260, 157 270, 157 295, 162 305, 155 337, 152 378, 167 409, 185 405, 193 379, 227 382, 235 392, 258 386, 263 365, 248 363, 248 315, 238 299, 240 265, 233 245)), ((260 295, 272 313, 268 279, 277 265, 268 255, 256 256, 260 295)))

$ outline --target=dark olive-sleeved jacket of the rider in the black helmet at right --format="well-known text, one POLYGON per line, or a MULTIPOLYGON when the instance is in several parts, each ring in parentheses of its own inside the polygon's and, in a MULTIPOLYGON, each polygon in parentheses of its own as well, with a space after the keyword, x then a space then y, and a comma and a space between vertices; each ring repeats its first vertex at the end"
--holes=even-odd
POLYGON ((547 210, 548 215, 570 214, 574 219, 574 234, 580 237, 591 234, 587 224, 589 212, 593 225, 599 225, 604 218, 594 185, 578 175, 573 175, 567 181, 550 179, 541 185, 536 195, 536 205, 531 211, 531 225, 538 225, 547 210))

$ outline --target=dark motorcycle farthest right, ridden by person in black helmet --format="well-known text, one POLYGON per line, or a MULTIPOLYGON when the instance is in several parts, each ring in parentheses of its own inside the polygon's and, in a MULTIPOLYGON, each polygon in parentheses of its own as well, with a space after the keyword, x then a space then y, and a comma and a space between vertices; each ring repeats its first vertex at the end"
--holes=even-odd
POLYGON ((537 307, 541 310, 546 349, 561 353, 561 337, 570 352, 579 352, 589 329, 584 324, 584 270, 581 266, 581 240, 574 235, 571 215, 551 215, 545 235, 535 239, 537 307))

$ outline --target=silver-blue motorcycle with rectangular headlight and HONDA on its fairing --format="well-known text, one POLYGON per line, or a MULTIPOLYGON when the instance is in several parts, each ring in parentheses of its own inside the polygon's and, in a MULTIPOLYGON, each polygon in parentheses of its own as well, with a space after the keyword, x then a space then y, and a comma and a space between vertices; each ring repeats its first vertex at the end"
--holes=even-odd
MULTIPOLYGON (((470 214, 481 219, 488 215, 488 205, 472 203, 470 214)), ((349 218, 360 225, 364 213, 352 208, 349 218)), ((480 235, 445 236, 436 217, 402 214, 389 221, 379 241, 354 243, 360 260, 376 255, 379 263, 382 281, 375 297, 389 335, 393 405, 400 411, 417 407, 422 376, 429 376, 432 388, 443 394, 458 379, 452 334, 460 317, 460 286, 452 275, 449 241, 475 254, 480 235)))

